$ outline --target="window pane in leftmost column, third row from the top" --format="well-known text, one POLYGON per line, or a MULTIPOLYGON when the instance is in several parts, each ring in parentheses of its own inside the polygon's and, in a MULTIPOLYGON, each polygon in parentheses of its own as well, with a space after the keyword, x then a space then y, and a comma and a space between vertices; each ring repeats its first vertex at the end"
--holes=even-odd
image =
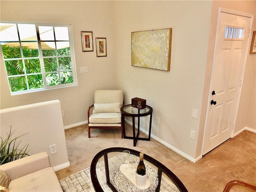
POLYGON ((24 67, 22 60, 5 61, 7 75, 20 75, 24 74, 24 67))

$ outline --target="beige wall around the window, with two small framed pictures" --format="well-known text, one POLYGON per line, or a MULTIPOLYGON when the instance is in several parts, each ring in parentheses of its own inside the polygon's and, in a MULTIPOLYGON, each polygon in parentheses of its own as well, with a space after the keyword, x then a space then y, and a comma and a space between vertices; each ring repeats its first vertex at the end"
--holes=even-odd
POLYGON ((10 96, 0 51, 1 109, 58 99, 65 112, 64 126, 69 126, 87 120, 94 90, 116 87, 111 2, 1 0, 0 18, 2 21, 72 24, 78 78, 78 86, 10 96), (93 32, 94 52, 82 52, 81 31, 93 32), (96 57, 96 37, 106 37, 107 57, 96 57), (88 66, 88 73, 80 73, 83 66, 88 66))

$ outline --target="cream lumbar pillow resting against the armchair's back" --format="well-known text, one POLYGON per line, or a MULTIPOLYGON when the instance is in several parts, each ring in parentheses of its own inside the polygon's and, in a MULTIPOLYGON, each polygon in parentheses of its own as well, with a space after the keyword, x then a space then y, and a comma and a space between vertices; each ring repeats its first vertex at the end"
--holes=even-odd
POLYGON ((121 103, 94 103, 92 113, 120 113, 121 103))

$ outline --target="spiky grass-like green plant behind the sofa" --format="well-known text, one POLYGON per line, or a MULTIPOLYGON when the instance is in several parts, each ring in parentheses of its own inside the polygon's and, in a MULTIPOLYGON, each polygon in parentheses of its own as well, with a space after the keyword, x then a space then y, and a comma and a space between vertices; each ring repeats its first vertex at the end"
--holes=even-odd
MULTIPOLYGON (((15 130, 14 130, 15 131, 15 130)), ((6 133, 7 137, 5 139, 1 138, 1 147, 0 147, 0 165, 23 158, 25 156, 29 156, 28 152, 28 144, 23 146, 21 149, 19 147, 20 142, 18 142, 18 138, 24 136, 25 134, 15 137, 14 139, 11 139, 12 134, 12 126, 10 128, 10 133, 6 133), (18 144, 17 144, 18 142, 18 144)))

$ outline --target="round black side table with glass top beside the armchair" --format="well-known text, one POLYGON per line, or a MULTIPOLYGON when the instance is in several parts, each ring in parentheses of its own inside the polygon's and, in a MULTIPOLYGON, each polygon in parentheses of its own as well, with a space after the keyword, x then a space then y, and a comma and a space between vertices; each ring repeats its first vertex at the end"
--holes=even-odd
POLYGON ((144 109, 138 109, 135 107, 132 107, 132 104, 122 106, 121 113, 122 113, 122 122, 123 122, 123 134, 125 139, 133 139, 133 146, 135 147, 138 140, 144 140, 144 141, 150 141, 150 135, 151 135, 151 124, 152 124, 152 112, 153 109, 150 106, 146 106, 144 109), (140 134, 140 117, 148 116, 150 115, 150 121, 149 121, 149 131, 148 131, 148 138, 141 138, 139 137, 140 134), (132 117, 132 132, 133 136, 126 136, 125 133, 125 126, 124 126, 124 116, 132 117), (135 133, 135 117, 138 117, 138 132, 135 133))

